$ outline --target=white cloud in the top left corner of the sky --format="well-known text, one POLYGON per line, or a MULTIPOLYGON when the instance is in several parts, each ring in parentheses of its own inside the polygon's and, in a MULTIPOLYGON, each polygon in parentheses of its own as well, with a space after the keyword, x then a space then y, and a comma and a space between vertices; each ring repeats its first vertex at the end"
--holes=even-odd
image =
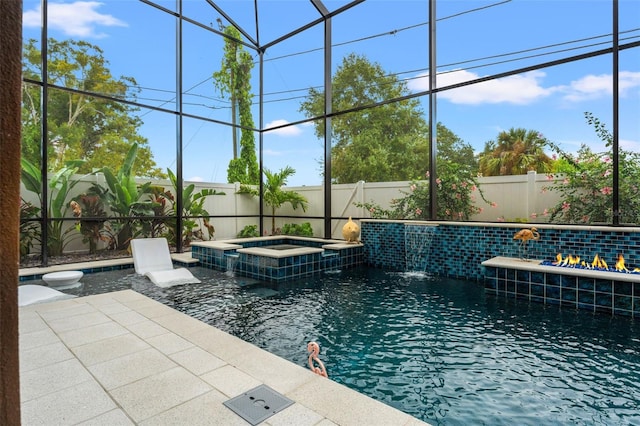
MULTIPOLYGON (((73 3, 49 3, 47 18, 49 28, 62 31, 73 37, 106 37, 105 33, 96 32, 97 26, 126 27, 127 24, 112 15, 99 13, 97 9, 103 3, 95 1, 76 1, 73 3)), ((22 23, 25 27, 39 27, 42 9, 37 6, 24 12, 22 23)))

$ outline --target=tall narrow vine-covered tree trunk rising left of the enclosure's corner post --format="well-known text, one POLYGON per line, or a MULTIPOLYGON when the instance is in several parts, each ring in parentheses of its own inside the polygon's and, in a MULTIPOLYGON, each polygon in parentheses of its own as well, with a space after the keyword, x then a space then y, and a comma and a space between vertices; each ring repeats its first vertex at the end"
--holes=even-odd
POLYGON ((260 182, 260 168, 256 158, 256 143, 251 114, 251 70, 253 58, 240 43, 242 35, 232 25, 224 27, 225 45, 220 70, 213 73, 213 84, 222 96, 229 95, 233 131, 233 159, 227 169, 229 183, 240 182, 257 185, 260 182), (236 116, 240 122, 236 122, 236 116), (237 152, 237 132, 240 128, 240 153, 237 152))

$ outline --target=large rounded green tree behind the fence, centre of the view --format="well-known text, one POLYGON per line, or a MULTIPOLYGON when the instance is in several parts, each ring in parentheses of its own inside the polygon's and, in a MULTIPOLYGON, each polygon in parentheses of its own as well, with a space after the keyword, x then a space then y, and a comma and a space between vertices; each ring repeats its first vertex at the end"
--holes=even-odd
MULTIPOLYGON (((336 70, 332 88, 333 112, 380 104, 332 119, 332 182, 424 179, 429 140, 420 103, 415 99, 383 103, 409 94, 405 82, 364 56, 350 54, 336 70)), ((300 111, 310 118, 321 116, 324 93, 311 88, 300 111)), ((438 158, 475 169, 472 147, 440 123, 437 130, 438 158)), ((324 137, 321 122, 316 123, 315 133, 324 137)))

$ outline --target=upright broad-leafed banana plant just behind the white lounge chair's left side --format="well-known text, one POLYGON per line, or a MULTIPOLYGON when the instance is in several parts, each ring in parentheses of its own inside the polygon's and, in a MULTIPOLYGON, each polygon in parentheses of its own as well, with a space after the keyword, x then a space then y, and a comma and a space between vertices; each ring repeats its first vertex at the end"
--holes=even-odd
POLYGON ((116 173, 109 167, 100 169, 104 174, 107 188, 102 188, 99 184, 92 188, 94 193, 101 194, 105 206, 121 219, 112 221, 111 226, 116 238, 116 250, 127 250, 129 241, 142 230, 140 223, 135 223, 131 218, 153 215, 154 203, 149 198, 151 182, 139 185, 133 174, 137 152, 138 144, 131 145, 122 167, 116 173))

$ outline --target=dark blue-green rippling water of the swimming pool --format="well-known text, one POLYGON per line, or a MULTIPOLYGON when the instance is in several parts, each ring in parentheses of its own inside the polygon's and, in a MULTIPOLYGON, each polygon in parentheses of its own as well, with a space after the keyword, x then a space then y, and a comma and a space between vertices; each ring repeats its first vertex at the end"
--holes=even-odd
POLYGON ((302 366, 315 340, 332 380, 432 424, 640 424, 630 318, 376 269, 284 285, 192 271, 202 284, 160 289, 124 270, 71 292, 133 288, 302 366))

